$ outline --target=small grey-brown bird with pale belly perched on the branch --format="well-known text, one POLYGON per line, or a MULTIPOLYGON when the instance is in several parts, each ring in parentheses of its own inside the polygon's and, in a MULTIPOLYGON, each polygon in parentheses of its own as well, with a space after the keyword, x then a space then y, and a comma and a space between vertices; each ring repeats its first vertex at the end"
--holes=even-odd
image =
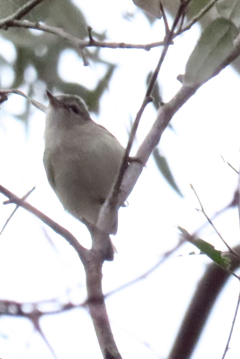
MULTIPOLYGON (((83 99, 53 96, 47 91, 43 163, 48 182, 63 207, 94 229, 124 155, 124 148, 108 130, 91 120, 83 99)), ((117 218, 111 233, 117 231, 117 218)), ((106 260, 113 260, 109 235, 106 260)))

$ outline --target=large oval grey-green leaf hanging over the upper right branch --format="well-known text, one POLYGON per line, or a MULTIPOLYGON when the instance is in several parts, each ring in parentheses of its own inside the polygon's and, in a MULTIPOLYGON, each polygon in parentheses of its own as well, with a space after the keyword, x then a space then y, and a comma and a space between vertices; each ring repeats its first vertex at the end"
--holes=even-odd
POLYGON ((237 34, 238 30, 230 20, 219 18, 212 21, 188 59, 183 83, 198 85, 213 76, 234 49, 233 40, 237 34))

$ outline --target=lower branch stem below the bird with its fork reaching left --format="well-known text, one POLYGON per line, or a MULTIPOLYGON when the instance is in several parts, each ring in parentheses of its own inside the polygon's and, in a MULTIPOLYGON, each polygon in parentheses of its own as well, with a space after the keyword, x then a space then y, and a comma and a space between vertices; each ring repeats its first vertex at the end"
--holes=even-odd
POLYGON ((52 219, 44 215, 42 212, 15 196, 9 190, 0 185, 0 192, 9 198, 8 202, 15 203, 18 206, 26 209, 30 213, 36 215, 56 233, 60 234, 63 238, 71 244, 79 255, 86 273, 86 286, 88 299, 85 304, 88 305, 93 325, 96 331, 97 339, 104 359, 122 359, 117 349, 112 330, 110 327, 107 309, 104 303, 104 295, 102 291, 102 253, 94 250, 86 250, 76 240, 72 234, 54 222, 52 219))

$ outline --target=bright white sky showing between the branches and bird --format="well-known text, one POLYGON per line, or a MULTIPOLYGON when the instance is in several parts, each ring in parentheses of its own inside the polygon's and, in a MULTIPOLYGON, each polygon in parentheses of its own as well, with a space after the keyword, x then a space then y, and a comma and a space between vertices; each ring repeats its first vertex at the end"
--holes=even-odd
MULTIPOLYGON (((95 31, 107 29, 109 40, 147 43, 163 36, 162 20, 150 27, 131 0, 118 3, 76 0, 75 3, 81 6, 95 31), (127 11, 135 14, 132 21, 123 19, 122 15, 127 11)), ((184 73, 185 63, 198 36, 196 25, 177 38, 170 48, 159 75, 165 102, 180 88, 176 77, 184 73)), ((4 43, 2 55, 14 56, 11 49, 4 43)), ((101 53, 106 60, 117 62, 119 67, 101 99, 100 116, 93 115, 93 119, 126 145, 126 128, 142 103, 146 75, 155 68, 160 50, 102 49, 101 53)), ((73 51, 65 52, 59 64, 64 79, 89 88, 94 88, 103 70, 101 65, 84 67, 73 51)), ((1 76, 2 81, 11 78, 8 72, 1 76)), ((220 155, 239 168, 239 85, 239 76, 228 67, 199 89, 174 116, 174 132, 165 131, 160 149, 169 161, 184 199, 171 190, 150 159, 128 199, 129 206, 120 210, 119 230, 114 237, 118 255, 114 262, 104 264, 105 292, 136 278, 154 265, 162 253, 177 243, 177 225, 191 232, 204 223, 203 216, 195 210, 199 204, 189 183, 194 185, 210 216, 231 200, 237 176, 223 163, 220 155)), ((33 111, 26 136, 22 123, 8 116, 8 112, 18 113, 21 106, 22 99, 17 95, 1 106, 4 115, 0 122, 0 151, 4 154, 0 162, 1 184, 19 196, 37 185, 29 202, 81 238, 83 245, 89 246, 84 226, 64 212, 47 183, 42 164, 44 114, 33 111)), ((156 112, 150 104, 143 114, 133 153, 155 118, 156 112)), ((0 196, 0 200, 5 200, 5 197, 0 196)), ((0 228, 13 208, 0 206, 0 228)), ((216 226, 231 246, 239 242, 236 210, 221 216, 216 220, 216 226)), ((225 250, 210 228, 206 228, 202 238, 225 250)), ((75 252, 62 238, 24 210, 19 209, 11 220, 1 236, 0 246, 1 298, 23 302, 71 298, 77 303, 85 299, 84 271, 75 252), (43 228, 57 252, 46 241, 43 228)), ((107 299, 113 334, 124 359, 165 358, 168 355, 197 280, 210 262, 204 256, 188 256, 191 251, 194 247, 185 245, 178 252, 182 256, 175 255, 147 279, 107 299)), ((194 359, 204 355, 221 358, 238 291, 237 280, 232 279, 218 299, 194 359)), ((43 318, 41 325, 58 359, 66 356, 72 359, 79 356, 101 358, 90 317, 84 309, 43 318)), ((229 350, 227 359, 239 357, 239 334, 238 319, 230 343, 233 349, 229 350)), ((16 355, 23 359, 52 358, 29 322, 3 318, 0 320, 0 358, 11 359, 16 355)))

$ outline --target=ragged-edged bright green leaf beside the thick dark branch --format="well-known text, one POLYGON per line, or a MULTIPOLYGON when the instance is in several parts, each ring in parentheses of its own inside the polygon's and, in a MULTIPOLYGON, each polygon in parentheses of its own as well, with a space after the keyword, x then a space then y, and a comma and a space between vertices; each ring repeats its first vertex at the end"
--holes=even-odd
POLYGON ((186 229, 179 226, 178 229, 182 233, 184 239, 194 244, 194 246, 196 246, 201 251, 201 253, 206 254, 206 256, 208 256, 211 260, 213 260, 213 262, 218 264, 220 267, 223 267, 225 269, 230 268, 231 260, 225 253, 216 250, 215 247, 212 246, 212 244, 204 241, 201 238, 194 238, 187 232, 186 229))

